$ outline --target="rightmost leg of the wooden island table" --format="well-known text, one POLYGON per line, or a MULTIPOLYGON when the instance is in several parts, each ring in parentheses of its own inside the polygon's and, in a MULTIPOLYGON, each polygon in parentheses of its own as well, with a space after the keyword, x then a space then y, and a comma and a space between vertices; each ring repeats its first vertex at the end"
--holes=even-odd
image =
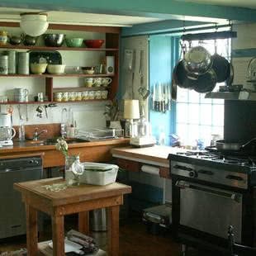
POLYGON ((107 250, 108 255, 119 253, 119 206, 107 208, 107 250))

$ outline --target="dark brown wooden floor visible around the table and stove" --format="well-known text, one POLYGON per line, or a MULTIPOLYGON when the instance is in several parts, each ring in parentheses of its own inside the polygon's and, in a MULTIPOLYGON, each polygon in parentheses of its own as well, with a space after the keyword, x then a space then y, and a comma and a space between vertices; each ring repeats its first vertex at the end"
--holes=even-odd
MULTIPOLYGON (((76 216, 69 216, 65 220, 65 230, 77 228, 76 216)), ((161 232, 155 235, 155 230, 148 230, 148 226, 140 220, 139 216, 132 216, 127 220, 121 220, 120 225, 120 255, 121 256, 179 256, 181 245, 173 242, 169 232, 161 232)), ((93 232, 92 237, 97 240, 100 248, 107 249, 107 233, 93 232)), ((46 221, 44 232, 40 233, 40 241, 51 239, 50 222, 46 221)), ((26 248, 24 236, 15 239, 0 240, 1 252, 26 248)), ((197 256, 195 250, 188 253, 189 256, 197 256)), ((200 254, 206 256, 207 254, 200 254)))

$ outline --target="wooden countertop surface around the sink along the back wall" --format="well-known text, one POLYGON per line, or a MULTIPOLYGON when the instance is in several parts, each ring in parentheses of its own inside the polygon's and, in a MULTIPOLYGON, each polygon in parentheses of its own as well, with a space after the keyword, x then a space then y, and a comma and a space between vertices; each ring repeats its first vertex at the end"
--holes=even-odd
MULTIPOLYGON (((84 148, 84 147, 95 147, 101 145, 120 145, 120 144, 128 144, 128 139, 115 139, 115 140, 100 140, 93 142, 78 142, 69 144, 69 149, 73 148, 84 148)), ((12 153, 20 153, 26 151, 45 151, 55 149, 55 145, 35 145, 29 142, 19 142, 14 141, 12 146, 3 146, 0 148, 0 156, 1 154, 12 154, 12 153)))

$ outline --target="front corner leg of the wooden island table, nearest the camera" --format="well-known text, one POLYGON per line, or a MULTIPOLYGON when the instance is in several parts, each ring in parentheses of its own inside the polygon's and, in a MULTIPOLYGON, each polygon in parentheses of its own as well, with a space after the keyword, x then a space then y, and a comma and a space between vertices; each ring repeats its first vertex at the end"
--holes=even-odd
POLYGON ((64 256, 64 216, 51 216, 53 255, 64 256))

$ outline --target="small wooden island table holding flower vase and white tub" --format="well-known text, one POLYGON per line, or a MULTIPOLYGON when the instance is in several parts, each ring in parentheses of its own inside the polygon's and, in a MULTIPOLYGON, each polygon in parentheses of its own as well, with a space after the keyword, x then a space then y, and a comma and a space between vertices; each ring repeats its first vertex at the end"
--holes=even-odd
POLYGON ((22 194, 26 205, 26 246, 27 255, 38 254, 37 211, 51 216, 53 255, 64 255, 64 216, 78 213, 78 230, 88 234, 88 211, 107 208, 108 254, 117 256, 119 251, 119 207, 123 195, 131 192, 131 187, 112 183, 106 186, 81 184, 59 192, 47 190, 45 185, 64 183, 63 178, 48 178, 25 183, 14 183, 14 188, 22 194))

